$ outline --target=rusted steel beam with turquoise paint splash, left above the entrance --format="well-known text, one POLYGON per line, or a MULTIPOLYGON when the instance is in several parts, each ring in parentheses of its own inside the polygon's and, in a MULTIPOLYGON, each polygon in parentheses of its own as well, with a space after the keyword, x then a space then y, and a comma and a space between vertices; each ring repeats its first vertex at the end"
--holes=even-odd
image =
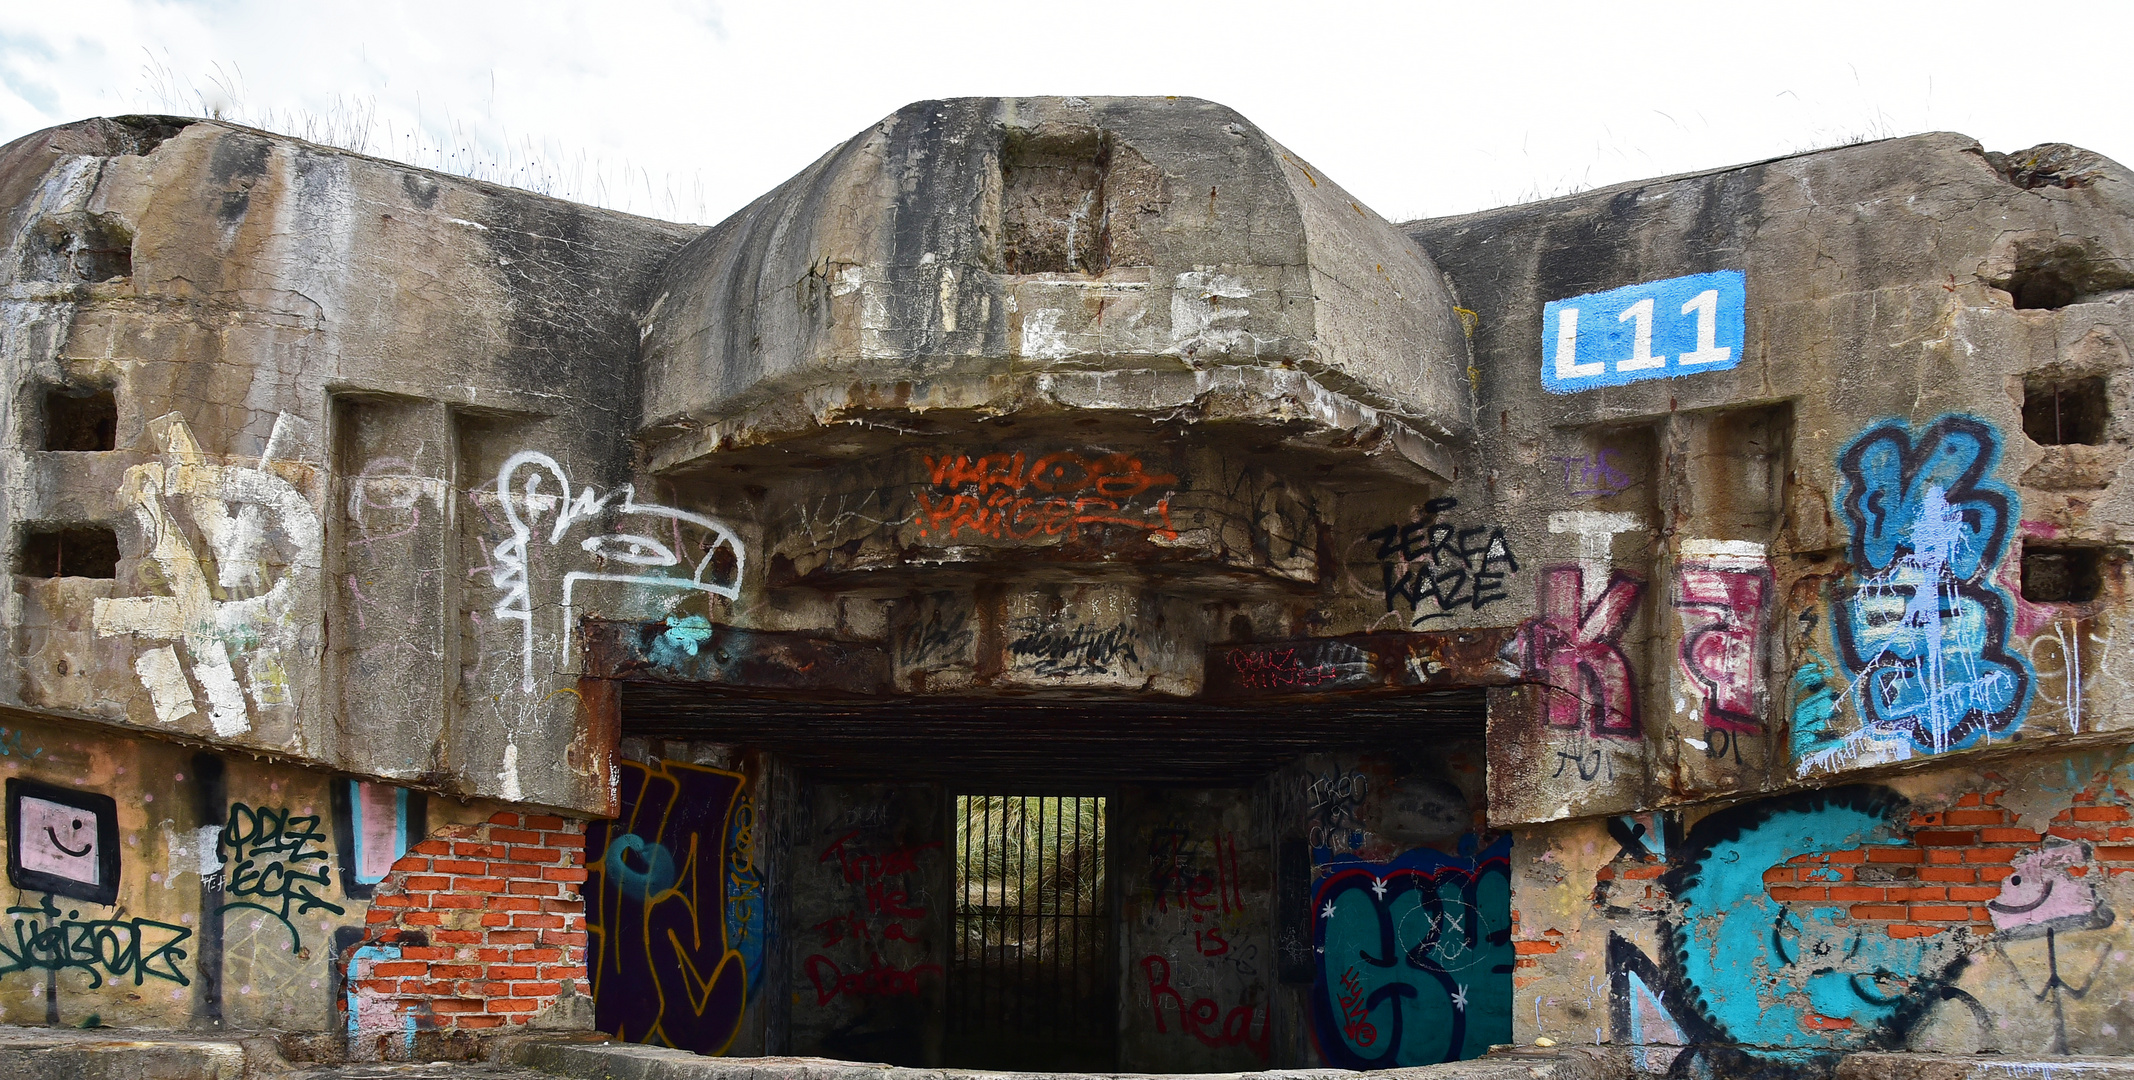
POLYGON ((634 683, 704 683, 815 694, 883 694, 890 653, 809 634, 740 630, 702 619, 585 619, 585 674, 634 683))

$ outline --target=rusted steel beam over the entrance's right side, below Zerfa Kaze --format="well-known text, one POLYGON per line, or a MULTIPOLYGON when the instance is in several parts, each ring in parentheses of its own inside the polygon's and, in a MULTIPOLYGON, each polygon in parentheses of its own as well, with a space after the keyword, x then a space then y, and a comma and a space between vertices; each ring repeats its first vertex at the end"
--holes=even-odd
POLYGON ((1519 679, 1517 628, 1349 634, 1208 649, 1208 700, 1344 696, 1398 687, 1492 687, 1519 679))

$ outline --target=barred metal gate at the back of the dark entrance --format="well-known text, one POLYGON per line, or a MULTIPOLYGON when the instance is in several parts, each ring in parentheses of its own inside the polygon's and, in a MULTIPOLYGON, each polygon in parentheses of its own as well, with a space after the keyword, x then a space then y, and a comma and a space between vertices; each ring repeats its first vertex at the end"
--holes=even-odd
POLYGON ((1103 817, 1103 796, 956 796, 950 1065, 1112 1067, 1103 817))

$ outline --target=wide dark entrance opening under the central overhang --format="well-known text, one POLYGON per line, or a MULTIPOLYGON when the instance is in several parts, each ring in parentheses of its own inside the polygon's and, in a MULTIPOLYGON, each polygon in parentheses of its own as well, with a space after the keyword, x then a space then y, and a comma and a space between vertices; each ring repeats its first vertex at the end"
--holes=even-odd
MULTIPOLYGON (((1206 1074, 1432 1063, 1509 1037, 1481 689, 1240 704, 621 683, 625 817, 672 805, 632 798, 630 777, 702 773, 753 822, 696 835, 758 873, 747 890, 700 875, 702 941, 747 973, 717 1016, 732 1042, 706 1052, 1206 1074), (1475 918, 1438 918, 1455 907, 1475 918), (1381 969, 1383 926, 1406 960, 1381 969), (1351 967, 1385 986, 1383 1035, 1344 1057, 1351 967)), ((632 854, 587 856, 627 886, 632 854)), ((657 971, 674 954, 591 922, 595 956, 630 948, 657 971)), ((664 1007, 698 1020, 696 997, 664 1007)))

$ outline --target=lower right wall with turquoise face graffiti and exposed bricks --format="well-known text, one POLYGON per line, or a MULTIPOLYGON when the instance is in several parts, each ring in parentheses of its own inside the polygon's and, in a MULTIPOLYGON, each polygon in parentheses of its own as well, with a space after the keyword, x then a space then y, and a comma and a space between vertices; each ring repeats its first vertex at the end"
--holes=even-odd
POLYGON ((2125 1054, 2130 779, 2117 749, 2025 753, 1519 830, 1519 1039, 1722 1076, 2125 1054))

